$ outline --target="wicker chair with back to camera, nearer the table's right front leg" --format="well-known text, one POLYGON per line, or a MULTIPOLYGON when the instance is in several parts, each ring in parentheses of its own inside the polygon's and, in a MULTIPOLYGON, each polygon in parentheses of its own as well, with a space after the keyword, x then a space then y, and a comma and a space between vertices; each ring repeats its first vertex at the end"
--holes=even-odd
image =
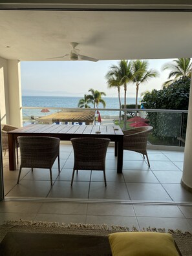
POLYGON ((74 180, 75 170, 103 171, 105 187, 105 157, 110 140, 107 138, 72 138, 74 149, 74 167, 70 186, 74 180))

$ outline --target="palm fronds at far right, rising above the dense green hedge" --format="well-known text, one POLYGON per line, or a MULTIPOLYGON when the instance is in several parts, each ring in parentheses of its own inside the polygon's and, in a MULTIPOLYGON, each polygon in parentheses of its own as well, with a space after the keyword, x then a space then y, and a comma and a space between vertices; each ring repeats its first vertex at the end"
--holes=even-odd
POLYGON ((170 69, 171 72, 168 78, 173 78, 173 80, 167 80, 163 85, 167 87, 183 76, 191 78, 191 67, 192 63, 190 58, 178 58, 174 59, 171 63, 165 63, 162 66, 162 70, 170 69))

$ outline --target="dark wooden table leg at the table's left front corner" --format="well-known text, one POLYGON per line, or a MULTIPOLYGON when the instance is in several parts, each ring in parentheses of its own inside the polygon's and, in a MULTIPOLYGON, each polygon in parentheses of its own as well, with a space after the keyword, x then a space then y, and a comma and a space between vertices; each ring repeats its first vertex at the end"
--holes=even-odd
POLYGON ((16 140, 8 133, 8 158, 10 171, 16 170, 16 140))

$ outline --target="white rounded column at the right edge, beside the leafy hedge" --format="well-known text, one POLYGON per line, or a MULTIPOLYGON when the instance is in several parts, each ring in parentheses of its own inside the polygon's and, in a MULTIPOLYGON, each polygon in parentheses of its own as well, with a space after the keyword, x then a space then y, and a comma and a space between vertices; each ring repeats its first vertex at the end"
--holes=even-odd
POLYGON ((188 191, 192 192, 192 76, 189 93, 189 112, 187 118, 187 133, 184 153, 184 169, 181 184, 188 191))

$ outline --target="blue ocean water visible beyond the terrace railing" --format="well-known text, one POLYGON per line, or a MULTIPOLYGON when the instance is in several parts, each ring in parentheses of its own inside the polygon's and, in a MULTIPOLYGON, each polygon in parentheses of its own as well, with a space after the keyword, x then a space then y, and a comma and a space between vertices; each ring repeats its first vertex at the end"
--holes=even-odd
MULTIPOLYGON (((61 96, 22 96, 23 107, 63 107, 63 108, 77 108, 78 102, 82 97, 61 97, 61 96)), ((106 109, 118 109, 118 98, 103 97, 106 103, 106 109)), ((122 104, 123 104, 123 98, 122 104)), ((142 98, 138 98, 140 103, 142 98)), ((127 98, 127 104, 134 104, 135 98, 127 98)), ((90 104, 91 107, 92 104, 90 104)), ((99 105, 99 108, 103 108, 103 105, 99 105)), ((49 109, 50 112, 46 114, 52 114, 58 112, 57 109, 49 109)), ((118 111, 101 111, 102 116, 118 116, 118 111)), ((44 116, 45 113, 40 109, 23 109, 23 118, 30 118, 30 116, 44 116)))

